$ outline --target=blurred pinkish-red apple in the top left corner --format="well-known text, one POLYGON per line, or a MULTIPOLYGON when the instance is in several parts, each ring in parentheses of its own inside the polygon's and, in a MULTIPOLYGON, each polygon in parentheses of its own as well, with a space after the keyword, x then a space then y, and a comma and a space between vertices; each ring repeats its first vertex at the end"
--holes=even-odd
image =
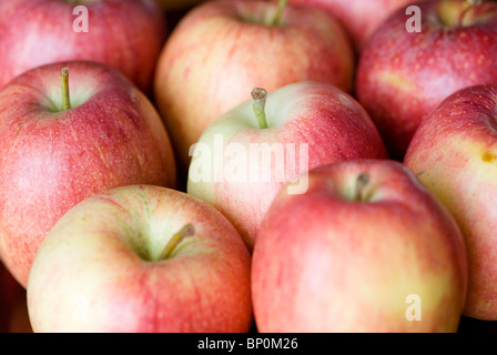
POLYGON ((155 0, 2 0, 0 33, 0 89, 42 64, 92 60, 148 93, 166 28, 155 0))

